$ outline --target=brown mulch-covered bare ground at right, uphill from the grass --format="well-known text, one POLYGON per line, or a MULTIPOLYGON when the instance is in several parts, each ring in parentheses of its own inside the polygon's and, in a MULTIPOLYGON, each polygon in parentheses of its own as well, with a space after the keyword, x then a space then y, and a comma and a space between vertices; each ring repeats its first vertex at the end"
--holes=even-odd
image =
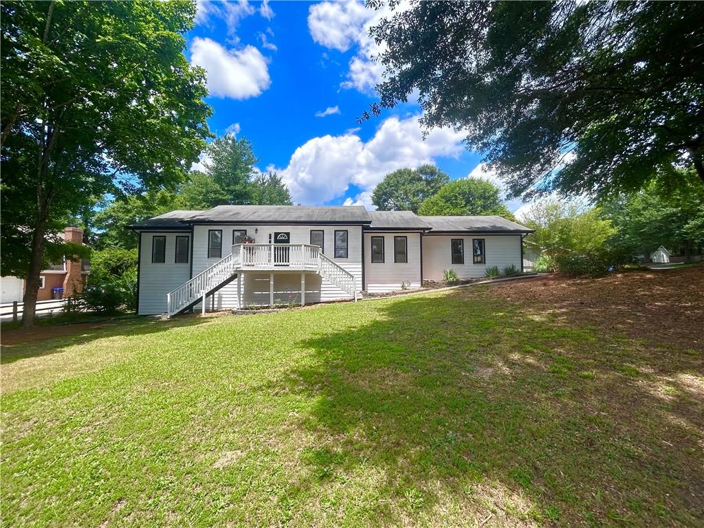
POLYGON ((489 294, 653 341, 704 350, 704 267, 632 271, 602 279, 546 275, 494 284, 489 294))

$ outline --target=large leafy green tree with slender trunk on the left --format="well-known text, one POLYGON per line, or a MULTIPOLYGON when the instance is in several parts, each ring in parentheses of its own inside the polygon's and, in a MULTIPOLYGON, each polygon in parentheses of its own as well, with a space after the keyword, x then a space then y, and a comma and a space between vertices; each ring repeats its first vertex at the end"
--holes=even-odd
POLYGON ((0 8, 2 243, 25 257, 5 253, 3 272, 27 278, 30 326, 57 219, 105 192, 180 182, 205 146, 210 107, 203 70, 183 55, 193 1, 0 8))

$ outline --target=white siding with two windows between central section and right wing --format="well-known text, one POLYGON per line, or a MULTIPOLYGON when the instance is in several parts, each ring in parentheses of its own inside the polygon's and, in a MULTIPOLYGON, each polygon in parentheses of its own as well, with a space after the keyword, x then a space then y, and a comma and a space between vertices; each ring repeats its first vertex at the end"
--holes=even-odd
POLYGON ((410 282, 409 288, 420 288, 420 233, 365 232, 364 244, 366 291, 395 291, 404 281, 410 282), (372 263, 372 237, 384 237, 383 263, 372 263), (408 263, 394 263, 394 237, 408 237, 408 263))

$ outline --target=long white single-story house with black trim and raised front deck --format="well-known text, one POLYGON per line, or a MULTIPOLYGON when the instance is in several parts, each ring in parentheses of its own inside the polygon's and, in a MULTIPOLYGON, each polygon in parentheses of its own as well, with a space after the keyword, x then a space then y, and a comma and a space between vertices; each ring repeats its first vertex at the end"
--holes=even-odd
POLYGON ((418 216, 361 206, 175 210, 139 234, 137 313, 318 303, 418 288, 453 268, 522 268, 527 227, 498 216, 418 216))

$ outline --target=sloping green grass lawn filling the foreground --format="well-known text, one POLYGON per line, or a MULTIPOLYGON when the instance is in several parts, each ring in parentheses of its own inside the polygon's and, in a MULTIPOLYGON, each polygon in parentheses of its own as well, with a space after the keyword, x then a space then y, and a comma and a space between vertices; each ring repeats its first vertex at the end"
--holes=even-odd
POLYGON ((701 526, 701 354, 489 288, 7 347, 2 526, 701 526))

